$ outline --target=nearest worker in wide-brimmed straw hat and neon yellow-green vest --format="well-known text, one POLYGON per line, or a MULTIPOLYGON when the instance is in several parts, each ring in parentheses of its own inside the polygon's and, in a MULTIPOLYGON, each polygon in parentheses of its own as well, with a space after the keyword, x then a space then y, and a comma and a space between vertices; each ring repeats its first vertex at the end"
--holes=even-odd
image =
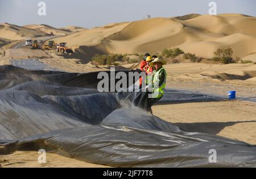
POLYGON ((163 65, 166 61, 162 58, 155 58, 154 61, 150 63, 154 66, 154 71, 151 75, 149 84, 146 86, 148 91, 148 104, 147 109, 152 113, 151 106, 159 101, 164 95, 164 88, 166 87, 167 73, 163 65))

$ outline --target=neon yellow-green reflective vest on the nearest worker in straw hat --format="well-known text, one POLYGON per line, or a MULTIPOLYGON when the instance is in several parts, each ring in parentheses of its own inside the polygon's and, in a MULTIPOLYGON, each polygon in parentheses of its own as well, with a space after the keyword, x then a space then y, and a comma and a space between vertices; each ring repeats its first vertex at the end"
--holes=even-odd
POLYGON ((152 91, 152 97, 154 98, 159 98, 162 97, 164 95, 164 88, 166 87, 166 77, 167 77, 167 73, 166 70, 162 67, 161 69, 159 69, 158 71, 154 70, 153 74, 152 74, 152 84, 156 84, 159 82, 159 73, 160 71, 164 70, 164 82, 161 86, 159 87, 154 87, 154 91, 152 91))

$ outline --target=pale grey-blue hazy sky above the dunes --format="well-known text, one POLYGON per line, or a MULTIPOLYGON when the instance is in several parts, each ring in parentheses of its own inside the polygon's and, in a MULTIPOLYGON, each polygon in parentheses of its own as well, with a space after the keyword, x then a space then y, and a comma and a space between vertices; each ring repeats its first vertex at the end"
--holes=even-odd
MULTIPOLYGON (((210 0, 0 0, 0 23, 16 25, 75 25, 85 28, 109 23, 186 14, 208 14, 210 0), (46 3, 46 15, 38 15, 39 2, 46 3)), ((255 0, 214 0, 217 14, 256 16, 255 0)))

